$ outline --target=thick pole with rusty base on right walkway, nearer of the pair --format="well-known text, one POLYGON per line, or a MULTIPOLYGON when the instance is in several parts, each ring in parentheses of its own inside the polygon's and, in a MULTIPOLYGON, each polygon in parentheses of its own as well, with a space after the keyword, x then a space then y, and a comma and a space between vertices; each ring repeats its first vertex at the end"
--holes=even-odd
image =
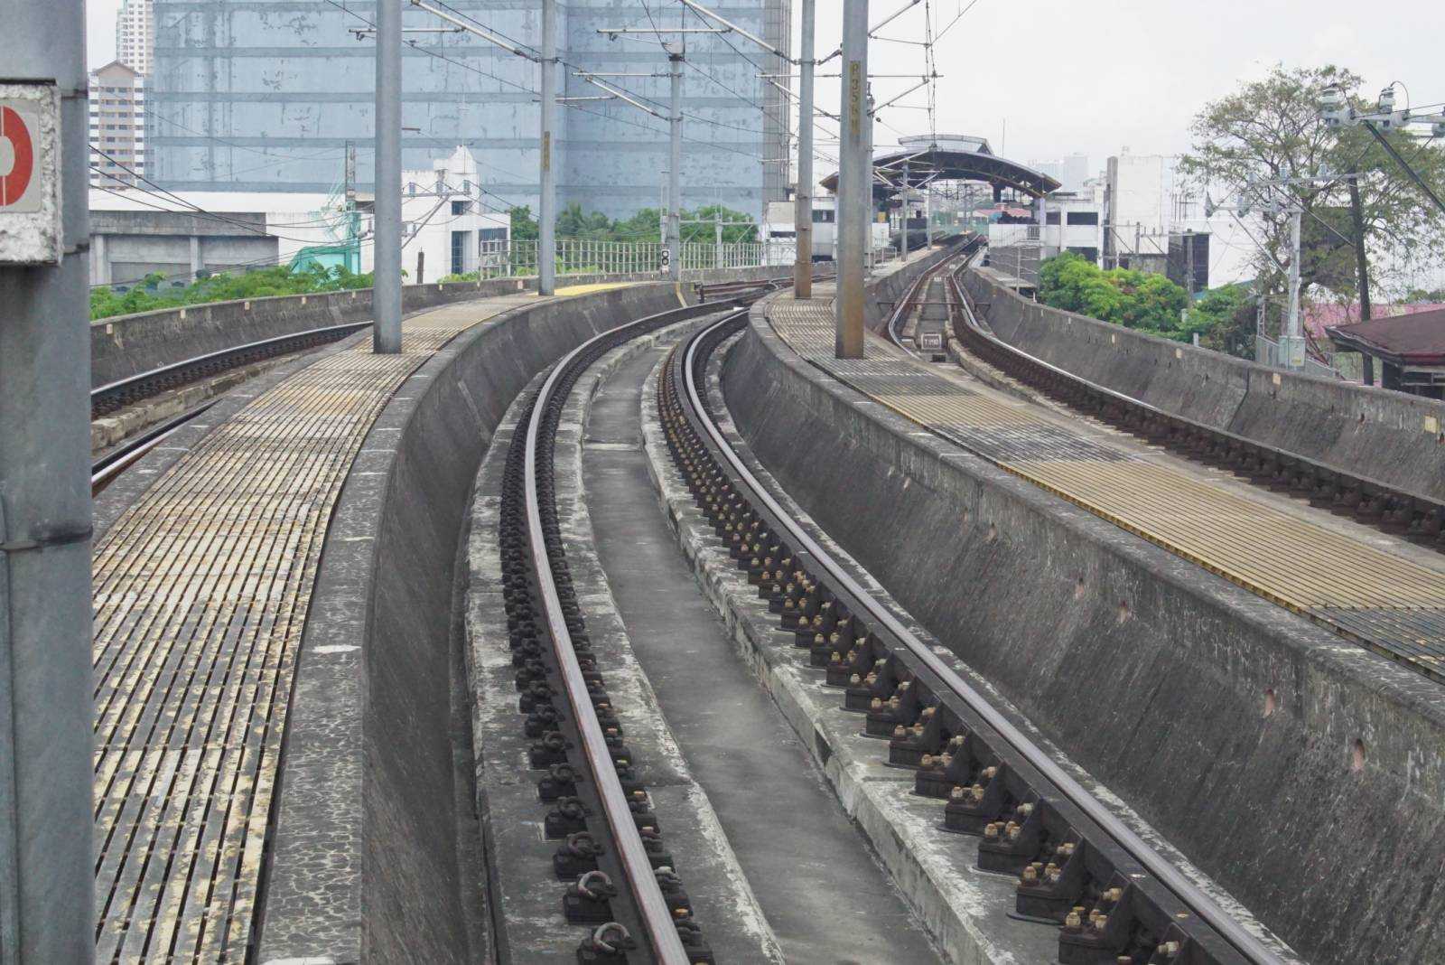
POLYGON ((868 0, 842 3, 842 130, 838 144, 838 298, 834 354, 863 358, 864 259, 873 231, 873 157, 868 131, 868 0))

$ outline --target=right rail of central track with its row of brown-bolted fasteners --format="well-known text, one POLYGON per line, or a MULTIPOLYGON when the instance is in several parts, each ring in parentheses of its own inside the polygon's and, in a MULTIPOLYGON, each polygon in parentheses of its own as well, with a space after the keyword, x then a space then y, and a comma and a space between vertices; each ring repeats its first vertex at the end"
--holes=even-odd
POLYGON ((887 763, 915 771, 915 793, 939 802, 942 831, 981 838, 980 871, 1014 875, 1012 913, 1058 926, 1058 961, 1068 965, 1279 962, 871 597, 749 471, 702 389, 708 357, 741 325, 741 313, 730 316, 673 351, 657 393, 672 456, 783 630, 863 715, 866 732, 886 741, 887 763))

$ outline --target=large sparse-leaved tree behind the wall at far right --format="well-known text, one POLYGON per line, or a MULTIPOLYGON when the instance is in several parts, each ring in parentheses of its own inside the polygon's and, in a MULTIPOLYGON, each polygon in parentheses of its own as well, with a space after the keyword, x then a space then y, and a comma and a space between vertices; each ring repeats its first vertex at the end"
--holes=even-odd
MULTIPOLYGON (((1319 92, 1340 85, 1358 108, 1361 78, 1327 65, 1285 68, 1243 82, 1234 92, 1212 101, 1192 124, 1194 150, 1181 159, 1181 173, 1215 198, 1248 201, 1251 228, 1266 253, 1254 256, 1254 269, 1267 292, 1285 287, 1276 267, 1289 263, 1289 212, 1270 208, 1261 179, 1358 175, 1366 251, 1374 279, 1389 285, 1403 280, 1409 267, 1441 261, 1445 251, 1445 215, 1433 208, 1409 175, 1363 127, 1325 127, 1319 92)), ((1387 134, 1390 143, 1428 183, 1445 185, 1445 150, 1439 143, 1416 143, 1409 134, 1387 134)), ((1319 285, 1337 296, 1353 298, 1354 230, 1350 218, 1348 181, 1293 183, 1287 188, 1305 209, 1300 274, 1305 287, 1319 285)), ((1373 279, 1373 280, 1374 280, 1373 279)))

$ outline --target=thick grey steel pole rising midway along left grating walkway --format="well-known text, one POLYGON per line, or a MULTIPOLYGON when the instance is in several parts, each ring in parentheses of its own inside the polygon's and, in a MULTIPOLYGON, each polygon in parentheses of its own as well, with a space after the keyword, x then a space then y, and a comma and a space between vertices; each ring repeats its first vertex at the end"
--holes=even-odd
POLYGON ((402 351, 402 0, 376 4, 376 266, 371 350, 402 351))

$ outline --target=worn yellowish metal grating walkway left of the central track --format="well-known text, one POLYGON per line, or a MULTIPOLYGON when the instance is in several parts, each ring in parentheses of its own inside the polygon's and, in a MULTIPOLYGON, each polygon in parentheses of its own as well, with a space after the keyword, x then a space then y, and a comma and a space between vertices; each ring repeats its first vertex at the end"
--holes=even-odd
MULTIPOLYGON (((562 292, 559 292, 562 293, 562 292)), ((327 524, 396 389, 471 325, 535 295, 406 322, 257 396, 94 552, 98 962, 240 962, 327 524)))

